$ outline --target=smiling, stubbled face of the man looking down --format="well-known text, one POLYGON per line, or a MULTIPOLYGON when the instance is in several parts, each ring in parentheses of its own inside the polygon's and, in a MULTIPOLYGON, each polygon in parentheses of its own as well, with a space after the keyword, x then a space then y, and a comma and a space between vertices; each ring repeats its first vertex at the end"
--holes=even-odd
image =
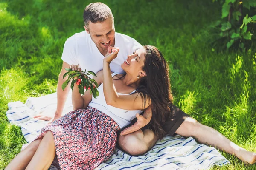
POLYGON ((84 26, 84 29, 90 34, 90 37, 102 55, 106 55, 108 45, 115 45, 115 27, 110 17, 102 23, 89 22, 88 28, 84 26))

